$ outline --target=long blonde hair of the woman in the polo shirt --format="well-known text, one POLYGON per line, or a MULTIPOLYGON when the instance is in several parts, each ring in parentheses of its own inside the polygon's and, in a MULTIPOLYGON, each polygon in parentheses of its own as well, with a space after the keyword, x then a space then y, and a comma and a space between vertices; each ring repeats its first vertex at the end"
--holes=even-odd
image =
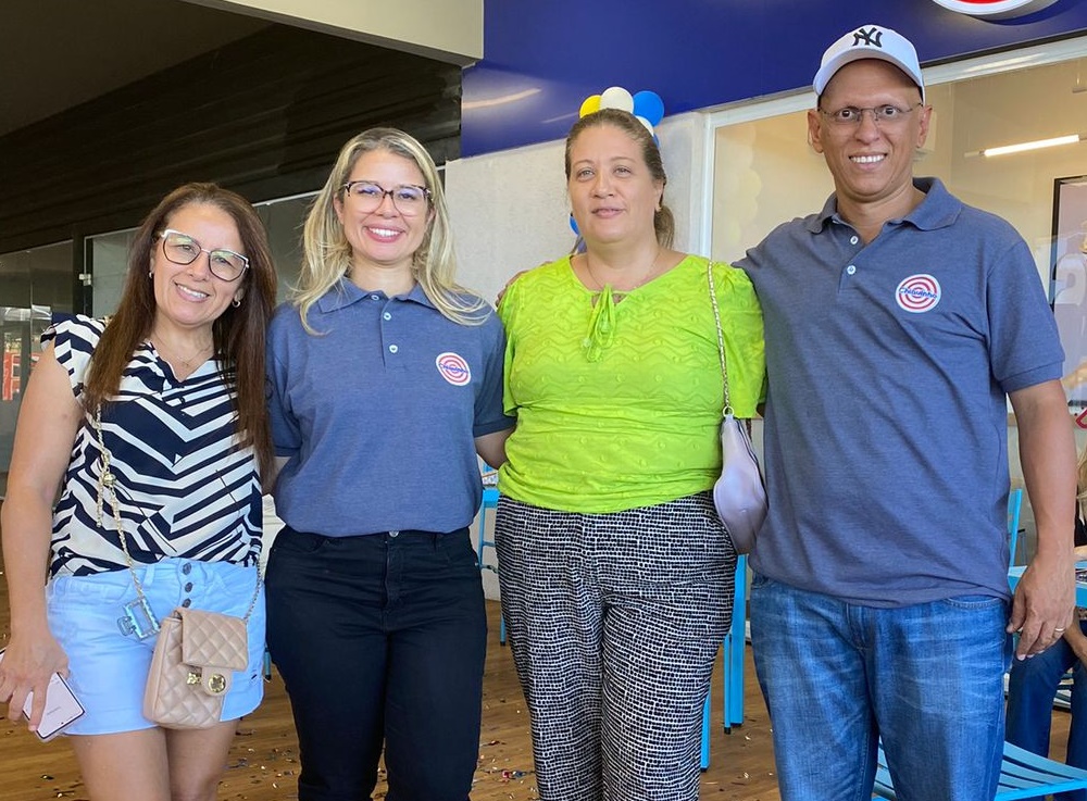
POLYGON ((364 153, 385 151, 408 159, 418 167, 430 193, 434 217, 423 241, 412 255, 412 275, 442 315, 461 325, 480 325, 491 309, 474 292, 455 281, 457 258, 446 197, 438 168, 430 154, 409 134, 397 128, 370 128, 348 141, 336 158, 328 180, 317 193, 302 229, 302 268, 291 302, 298 306, 302 326, 310 334, 307 315, 311 306, 351 270, 351 243, 336 215, 335 201, 342 200, 343 185, 364 153))

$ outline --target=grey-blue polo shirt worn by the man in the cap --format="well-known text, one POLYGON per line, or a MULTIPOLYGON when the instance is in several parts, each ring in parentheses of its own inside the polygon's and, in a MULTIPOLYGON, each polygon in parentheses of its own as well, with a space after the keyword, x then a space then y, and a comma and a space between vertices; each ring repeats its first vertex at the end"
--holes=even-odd
POLYGON ((1023 238, 915 185, 922 203, 867 246, 832 196, 737 265, 769 374, 752 566, 873 606, 1009 596, 1005 395, 1063 363, 1023 238))

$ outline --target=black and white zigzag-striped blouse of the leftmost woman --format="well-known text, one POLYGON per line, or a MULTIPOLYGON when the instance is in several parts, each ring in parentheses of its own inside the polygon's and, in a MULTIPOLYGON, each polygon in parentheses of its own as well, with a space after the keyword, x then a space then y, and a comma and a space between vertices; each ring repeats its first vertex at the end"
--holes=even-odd
MULTIPOLYGON (((83 396, 102 321, 76 316, 42 335, 53 341, 72 391, 83 396)), ((137 563, 166 556, 255 564, 260 554, 261 489, 251 448, 235 437, 233 392, 217 360, 184 381, 150 342, 140 345, 102 408, 102 433, 116 476, 128 551, 137 563)), ((85 415, 76 434, 62 495, 53 512, 52 575, 126 570, 109 503, 98 523, 98 436, 85 415)))

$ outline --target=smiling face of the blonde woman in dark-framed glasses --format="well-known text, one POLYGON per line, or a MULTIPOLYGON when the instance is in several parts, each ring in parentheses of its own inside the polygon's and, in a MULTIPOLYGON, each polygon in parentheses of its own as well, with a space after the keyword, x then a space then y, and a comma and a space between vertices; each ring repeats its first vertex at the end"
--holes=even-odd
MULTIPOLYGON (((367 180, 383 189, 397 186, 426 186, 422 171, 411 159, 388 150, 371 150, 354 162, 348 182, 367 180)), ((338 191, 333 204, 351 245, 353 268, 383 267, 410 270, 412 258, 426 237, 434 211, 426 205, 422 214, 405 216, 389 196, 376 209, 363 211, 353 195, 338 191)))

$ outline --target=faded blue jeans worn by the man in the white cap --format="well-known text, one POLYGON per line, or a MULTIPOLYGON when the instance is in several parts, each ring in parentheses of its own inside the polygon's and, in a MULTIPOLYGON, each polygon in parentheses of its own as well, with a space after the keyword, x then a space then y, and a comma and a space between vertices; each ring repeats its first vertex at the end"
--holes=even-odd
POLYGON ((991 801, 1007 603, 876 609, 755 574, 751 641, 783 801, 867 801, 883 739, 901 801, 991 801))

